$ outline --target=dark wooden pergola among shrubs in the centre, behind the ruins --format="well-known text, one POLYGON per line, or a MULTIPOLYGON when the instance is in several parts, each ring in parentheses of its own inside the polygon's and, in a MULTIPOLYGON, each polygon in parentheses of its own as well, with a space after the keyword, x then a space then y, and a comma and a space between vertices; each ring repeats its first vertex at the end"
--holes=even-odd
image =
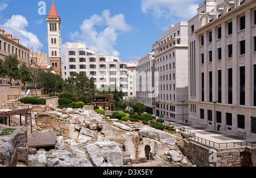
POLYGON ((92 104, 95 104, 96 107, 98 107, 98 105, 102 105, 102 107, 104 108, 104 111, 106 110, 106 106, 108 106, 109 111, 112 111, 113 107, 115 109, 115 101, 111 100, 110 95, 90 96, 90 101, 92 104))

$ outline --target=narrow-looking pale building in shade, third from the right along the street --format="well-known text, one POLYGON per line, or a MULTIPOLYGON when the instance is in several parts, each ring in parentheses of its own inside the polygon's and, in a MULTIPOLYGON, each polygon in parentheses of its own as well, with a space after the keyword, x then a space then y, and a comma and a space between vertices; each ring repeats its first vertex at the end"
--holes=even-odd
POLYGON ((136 67, 137 99, 146 106, 146 112, 155 115, 155 53, 139 60, 136 67))

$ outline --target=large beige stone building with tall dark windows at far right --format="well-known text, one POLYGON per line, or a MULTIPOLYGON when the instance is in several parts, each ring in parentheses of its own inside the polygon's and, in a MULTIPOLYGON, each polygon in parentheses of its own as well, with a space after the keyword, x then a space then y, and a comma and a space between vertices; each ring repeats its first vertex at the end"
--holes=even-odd
POLYGON ((188 21, 189 120, 256 135, 256 1, 205 0, 197 10, 188 21))

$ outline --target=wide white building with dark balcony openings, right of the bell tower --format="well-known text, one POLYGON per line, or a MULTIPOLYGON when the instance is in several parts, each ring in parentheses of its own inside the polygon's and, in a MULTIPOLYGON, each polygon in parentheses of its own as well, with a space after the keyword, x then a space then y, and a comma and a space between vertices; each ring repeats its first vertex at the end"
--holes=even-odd
POLYGON ((121 62, 115 56, 96 54, 82 43, 65 43, 65 56, 62 60, 63 79, 74 73, 84 73, 94 78, 99 90, 109 90, 109 87, 114 90, 116 84, 122 88, 124 98, 127 98, 127 62, 121 62))

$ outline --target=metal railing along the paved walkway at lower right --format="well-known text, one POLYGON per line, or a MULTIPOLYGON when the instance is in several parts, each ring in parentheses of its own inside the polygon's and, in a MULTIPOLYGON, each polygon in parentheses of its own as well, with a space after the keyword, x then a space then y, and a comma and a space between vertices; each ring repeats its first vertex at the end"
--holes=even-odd
POLYGON ((175 129, 179 130, 180 133, 184 133, 188 135, 188 139, 199 142, 201 144, 210 146, 214 149, 234 149, 234 148, 249 148, 249 149, 256 149, 256 142, 226 142, 226 143, 216 143, 213 141, 209 141, 208 139, 197 137, 196 133, 190 132, 189 130, 186 130, 184 126, 171 124, 171 126, 174 126, 175 129))

